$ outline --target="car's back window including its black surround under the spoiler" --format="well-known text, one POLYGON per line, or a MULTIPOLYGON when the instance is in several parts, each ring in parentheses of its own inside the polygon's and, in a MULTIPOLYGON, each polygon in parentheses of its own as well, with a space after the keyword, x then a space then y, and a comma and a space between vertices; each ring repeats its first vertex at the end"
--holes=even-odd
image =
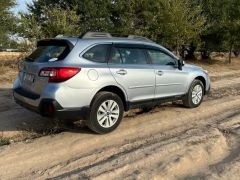
POLYGON ((70 50, 70 45, 65 41, 39 41, 37 49, 26 58, 26 61, 52 62, 63 60, 70 50))

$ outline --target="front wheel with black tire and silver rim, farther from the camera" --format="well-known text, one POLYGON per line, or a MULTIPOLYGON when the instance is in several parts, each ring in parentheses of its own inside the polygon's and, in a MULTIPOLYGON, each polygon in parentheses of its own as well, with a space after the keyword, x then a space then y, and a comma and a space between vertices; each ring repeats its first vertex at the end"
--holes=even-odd
POLYGON ((204 86, 202 81, 195 79, 183 99, 183 105, 188 108, 198 107, 203 100, 204 86))

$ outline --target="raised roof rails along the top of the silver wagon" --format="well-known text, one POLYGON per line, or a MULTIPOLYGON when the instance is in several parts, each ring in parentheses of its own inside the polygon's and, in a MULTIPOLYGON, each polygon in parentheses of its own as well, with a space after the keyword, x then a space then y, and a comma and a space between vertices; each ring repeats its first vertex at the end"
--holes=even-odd
POLYGON ((148 41, 148 42, 153 42, 152 40, 142 37, 142 36, 136 36, 136 35, 128 35, 128 36, 123 36, 120 37, 119 35, 121 34, 116 34, 116 33, 107 33, 107 32, 86 32, 82 33, 79 38, 81 39, 87 39, 87 38, 127 38, 127 39, 136 39, 136 40, 141 40, 141 41, 148 41))

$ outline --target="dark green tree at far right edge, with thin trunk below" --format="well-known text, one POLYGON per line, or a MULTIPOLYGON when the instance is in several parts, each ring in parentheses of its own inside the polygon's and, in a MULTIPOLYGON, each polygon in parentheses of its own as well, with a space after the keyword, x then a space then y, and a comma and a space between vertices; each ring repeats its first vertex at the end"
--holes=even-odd
POLYGON ((202 0, 203 13, 207 18, 202 33, 204 49, 208 51, 229 51, 239 48, 240 3, 239 0, 202 0))

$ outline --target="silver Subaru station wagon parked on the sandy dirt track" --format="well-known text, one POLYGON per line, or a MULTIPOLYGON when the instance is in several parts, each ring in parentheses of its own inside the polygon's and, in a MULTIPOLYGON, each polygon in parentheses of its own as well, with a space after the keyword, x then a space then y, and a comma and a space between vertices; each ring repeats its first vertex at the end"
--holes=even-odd
POLYGON ((182 100, 198 107, 210 90, 207 71, 184 64, 151 40, 88 32, 37 43, 19 64, 15 101, 42 116, 84 119, 97 133, 113 131, 124 111, 182 100))

